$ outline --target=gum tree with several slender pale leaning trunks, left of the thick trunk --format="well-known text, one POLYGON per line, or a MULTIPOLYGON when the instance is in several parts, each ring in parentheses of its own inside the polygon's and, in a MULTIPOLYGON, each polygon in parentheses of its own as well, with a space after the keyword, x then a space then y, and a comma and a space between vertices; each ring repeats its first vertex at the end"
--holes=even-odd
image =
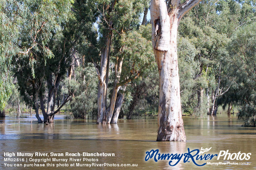
MULTIPOLYGON (((117 123, 118 114, 123 101, 127 84, 141 76, 143 66, 150 63, 148 40, 136 31, 140 22, 143 7, 148 6, 147 0, 100 0, 96 3, 100 12, 99 30, 101 46, 101 64, 95 64, 99 79, 98 86, 98 118, 97 123, 117 123), (140 43, 143 42, 143 43, 140 43), (135 45, 131 50, 131 45, 135 45), (111 52, 112 51, 112 52, 111 52), (148 58, 148 59, 147 59, 148 58), (113 62, 114 83, 108 106, 108 82, 110 65, 113 62), (127 64, 123 64, 128 62, 127 64), (126 65, 127 67, 122 67, 126 65), (139 67, 138 67, 139 66, 139 67), (128 74, 124 74, 124 73, 128 74), (117 98, 117 96, 119 96, 117 98)), ((144 67, 145 68, 145 67, 144 67)))

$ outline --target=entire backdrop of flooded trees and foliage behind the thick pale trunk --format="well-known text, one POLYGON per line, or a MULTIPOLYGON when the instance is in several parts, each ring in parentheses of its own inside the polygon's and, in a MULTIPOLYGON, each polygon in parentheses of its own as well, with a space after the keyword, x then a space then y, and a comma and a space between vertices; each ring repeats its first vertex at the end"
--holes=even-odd
MULTIPOLYGON (((156 116, 166 87, 149 6, 0 0, 0 115, 32 113, 51 123, 64 109, 103 124, 156 116)), ((202 0, 183 16, 176 49, 183 115, 204 118, 223 107, 256 126, 255 28, 255 0, 202 0)))

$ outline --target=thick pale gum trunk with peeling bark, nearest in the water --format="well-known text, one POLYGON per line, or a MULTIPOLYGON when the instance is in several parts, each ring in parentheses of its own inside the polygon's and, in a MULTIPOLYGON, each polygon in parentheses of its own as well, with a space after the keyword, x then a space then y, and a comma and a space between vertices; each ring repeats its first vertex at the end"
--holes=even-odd
POLYGON ((200 0, 151 0, 152 44, 160 76, 157 141, 186 141, 177 57, 182 16, 200 0))

